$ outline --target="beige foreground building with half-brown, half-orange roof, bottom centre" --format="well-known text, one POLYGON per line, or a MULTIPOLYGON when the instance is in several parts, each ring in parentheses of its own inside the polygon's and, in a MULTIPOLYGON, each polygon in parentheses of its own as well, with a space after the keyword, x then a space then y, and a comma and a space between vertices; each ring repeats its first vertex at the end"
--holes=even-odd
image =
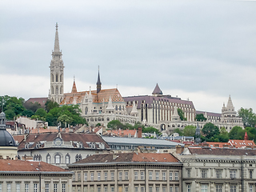
POLYGON ((69 169, 73 192, 182 191, 182 163, 172 154, 96 154, 69 169))

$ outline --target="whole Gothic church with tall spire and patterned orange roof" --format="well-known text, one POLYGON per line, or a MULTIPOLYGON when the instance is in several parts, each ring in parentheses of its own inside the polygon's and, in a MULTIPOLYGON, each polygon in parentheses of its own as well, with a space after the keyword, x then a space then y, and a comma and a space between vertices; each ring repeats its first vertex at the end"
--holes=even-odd
POLYGON ((71 93, 63 94, 64 64, 62 51, 59 48, 58 24, 56 24, 54 50, 50 62, 50 93, 48 98, 63 105, 78 105, 82 110, 82 117, 86 118, 89 126, 101 124, 107 126, 112 120, 134 124, 138 122, 138 112, 128 114, 126 102, 117 88, 102 90, 102 82, 98 70, 96 90, 77 91, 75 80, 71 93))

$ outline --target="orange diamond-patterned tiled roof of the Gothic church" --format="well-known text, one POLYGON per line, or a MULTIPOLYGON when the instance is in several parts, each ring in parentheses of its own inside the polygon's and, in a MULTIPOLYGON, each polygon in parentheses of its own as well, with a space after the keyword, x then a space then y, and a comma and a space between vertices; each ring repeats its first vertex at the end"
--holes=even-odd
MULTIPOLYGON (((83 98, 85 98, 86 94, 90 94, 90 91, 81 91, 76 93, 67 93, 64 94, 64 98, 60 105, 65 104, 74 104, 74 99, 76 103, 82 103, 83 98)), ((124 102, 124 99, 122 98, 122 95, 119 93, 118 89, 108 89, 108 90, 100 90, 100 92, 97 94, 97 90, 92 90, 91 95, 93 97, 94 103, 101 103, 105 102, 108 103, 109 99, 111 97, 112 102, 124 102)))

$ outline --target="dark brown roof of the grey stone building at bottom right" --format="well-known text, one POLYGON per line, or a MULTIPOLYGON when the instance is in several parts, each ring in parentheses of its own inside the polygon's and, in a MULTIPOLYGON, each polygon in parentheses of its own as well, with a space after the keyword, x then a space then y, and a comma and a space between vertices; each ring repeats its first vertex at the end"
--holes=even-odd
POLYGON ((256 155, 256 150, 235 149, 235 148, 211 148, 211 147, 188 147, 190 154, 206 155, 256 155))

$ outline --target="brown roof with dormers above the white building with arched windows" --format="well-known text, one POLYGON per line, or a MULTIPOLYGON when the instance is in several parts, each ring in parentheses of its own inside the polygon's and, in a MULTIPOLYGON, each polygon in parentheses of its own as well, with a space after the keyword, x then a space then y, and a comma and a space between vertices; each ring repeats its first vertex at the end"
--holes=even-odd
MULTIPOLYGON (((101 142, 104 143, 106 149, 110 148, 106 142, 98 136, 98 134, 82 134, 82 133, 60 133, 63 142, 82 142, 84 148, 90 148, 87 142, 101 142)), ((53 142, 58 137, 58 133, 44 133, 44 134, 29 134, 26 141, 23 140, 18 145, 18 150, 24 149, 27 142, 31 143, 30 149, 33 149, 38 142, 53 142)), ((42 146, 41 146, 42 147, 42 146)), ((77 146, 74 145, 74 148, 77 146)), ((95 145, 95 149, 98 149, 98 145, 95 145)), ((40 147, 39 147, 40 148, 40 147)))

